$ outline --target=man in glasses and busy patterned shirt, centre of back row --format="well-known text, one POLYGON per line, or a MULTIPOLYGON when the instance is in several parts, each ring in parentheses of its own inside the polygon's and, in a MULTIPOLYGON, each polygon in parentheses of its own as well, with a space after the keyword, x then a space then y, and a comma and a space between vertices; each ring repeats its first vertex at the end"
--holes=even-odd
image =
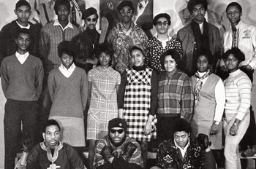
POLYGON ((135 12, 132 1, 121 1, 117 10, 121 16, 121 22, 110 30, 108 42, 113 45, 113 66, 116 71, 122 73, 132 66, 129 49, 135 44, 145 44, 148 40, 145 32, 132 21, 135 12))

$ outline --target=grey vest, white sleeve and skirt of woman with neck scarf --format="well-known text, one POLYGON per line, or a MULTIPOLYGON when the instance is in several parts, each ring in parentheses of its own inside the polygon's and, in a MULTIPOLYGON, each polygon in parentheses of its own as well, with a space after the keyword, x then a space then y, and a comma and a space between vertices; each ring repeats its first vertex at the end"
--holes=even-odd
MULTIPOLYGON (((193 89, 195 91, 195 85, 197 83, 197 77, 194 75, 191 77, 193 89)), ((203 87, 200 90, 200 98, 197 105, 194 107, 194 114, 191 120, 192 133, 197 136, 199 133, 208 135, 209 141, 211 141, 211 149, 222 149, 222 114, 225 104, 225 90, 224 84, 219 76, 211 74, 203 82, 203 87), (221 86, 217 87, 220 83, 221 86), (217 97, 218 91, 220 97, 217 97), (211 126, 214 121, 220 122, 219 133, 216 135, 210 135, 211 126)))

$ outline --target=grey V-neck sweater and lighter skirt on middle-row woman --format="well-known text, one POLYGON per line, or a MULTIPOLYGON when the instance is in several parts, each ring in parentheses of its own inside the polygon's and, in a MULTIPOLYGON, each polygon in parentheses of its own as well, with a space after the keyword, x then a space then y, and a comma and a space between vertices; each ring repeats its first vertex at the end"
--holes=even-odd
POLYGON ((53 102, 49 119, 56 119, 63 128, 62 141, 70 146, 85 146, 83 110, 88 95, 86 71, 75 67, 67 78, 59 68, 55 68, 48 76, 48 88, 53 102))

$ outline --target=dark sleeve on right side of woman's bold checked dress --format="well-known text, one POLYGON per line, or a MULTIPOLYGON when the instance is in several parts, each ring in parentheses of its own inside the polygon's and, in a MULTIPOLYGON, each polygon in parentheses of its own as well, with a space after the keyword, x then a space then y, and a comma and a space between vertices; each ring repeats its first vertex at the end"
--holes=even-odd
POLYGON ((151 103, 149 114, 154 116, 157 111, 157 103, 158 103, 158 75, 157 71, 152 72, 151 76, 151 103))

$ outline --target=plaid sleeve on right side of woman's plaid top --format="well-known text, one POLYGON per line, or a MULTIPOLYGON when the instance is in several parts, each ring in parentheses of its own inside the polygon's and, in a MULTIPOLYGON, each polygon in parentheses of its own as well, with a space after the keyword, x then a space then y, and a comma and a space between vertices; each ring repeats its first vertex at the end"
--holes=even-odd
POLYGON ((192 83, 190 82, 189 76, 187 75, 184 78, 181 97, 181 118, 187 119, 187 121, 189 121, 192 115, 194 95, 192 91, 192 83))

